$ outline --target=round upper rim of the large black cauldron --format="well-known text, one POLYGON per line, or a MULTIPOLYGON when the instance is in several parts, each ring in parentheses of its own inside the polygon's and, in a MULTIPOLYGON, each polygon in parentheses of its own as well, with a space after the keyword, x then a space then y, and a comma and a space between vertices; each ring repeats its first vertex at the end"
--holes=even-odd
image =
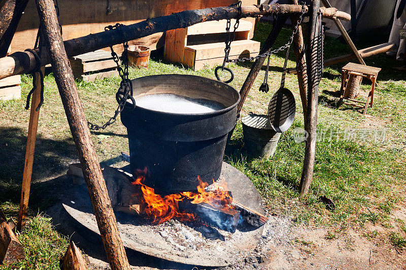
MULTIPOLYGON (((132 84, 132 81, 134 81, 134 80, 138 81, 138 80, 142 80, 142 79, 145 79, 145 78, 151 78, 151 77, 156 77, 156 76, 168 76, 169 77, 169 76, 174 76, 174 75, 176 75, 176 76, 184 76, 184 77, 194 77, 196 79, 198 78, 198 79, 202 79, 202 80, 206 80, 206 81, 214 81, 216 83, 219 83, 220 85, 224 85, 225 87, 229 87, 232 90, 234 90, 235 93, 238 95, 238 99, 232 105, 227 106, 227 107, 225 107, 223 109, 210 111, 210 112, 201 112, 201 113, 177 113, 177 112, 165 112, 165 111, 160 111, 160 110, 147 109, 147 108, 144 108, 144 107, 137 106, 137 99, 136 99, 136 108, 141 109, 141 110, 145 110, 147 112, 153 112, 153 113, 162 113, 162 114, 174 115, 174 116, 175 115, 179 115, 179 116, 187 116, 188 115, 189 117, 196 115, 196 117, 197 117, 197 116, 202 116, 202 115, 212 115, 212 114, 218 114, 218 113, 221 114, 221 113, 223 113, 225 111, 231 110, 232 108, 234 108, 236 105, 238 105, 240 103, 240 100, 241 100, 240 92, 237 91, 234 87, 232 87, 232 86, 230 86, 230 85, 228 85, 226 83, 216 81, 216 80, 213 80, 213 79, 210 79, 210 78, 206 78, 206 77, 203 77, 203 76, 197 76, 197 75, 191 75, 191 74, 155 74, 155 75, 147 75, 147 76, 142 76, 142 77, 139 77, 139 78, 136 78, 136 79, 132 79, 132 80, 130 80, 130 82, 132 84)), ((212 100, 212 101, 216 102, 215 100, 212 100)))

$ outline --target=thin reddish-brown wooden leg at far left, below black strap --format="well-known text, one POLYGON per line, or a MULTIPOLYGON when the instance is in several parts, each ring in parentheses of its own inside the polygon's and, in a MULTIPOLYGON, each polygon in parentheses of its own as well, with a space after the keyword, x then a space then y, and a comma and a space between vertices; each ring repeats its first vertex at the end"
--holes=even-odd
MULTIPOLYGON (((41 67, 40 72, 44 74, 45 66, 41 67)), ((31 187, 32 164, 34 161, 35 142, 37 139, 38 119, 40 111, 36 111, 41 99, 41 77, 39 73, 36 76, 36 90, 32 93, 31 110, 29 113, 27 148, 25 149, 24 172, 22 175, 22 188, 20 200, 20 212, 18 214, 17 230, 21 232, 21 228, 25 224, 27 217, 27 207, 29 199, 29 189, 31 187)))

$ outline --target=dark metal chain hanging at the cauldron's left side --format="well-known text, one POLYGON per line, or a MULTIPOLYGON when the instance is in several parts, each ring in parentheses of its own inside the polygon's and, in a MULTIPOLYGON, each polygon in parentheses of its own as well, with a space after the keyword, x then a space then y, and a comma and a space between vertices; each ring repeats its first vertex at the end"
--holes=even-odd
MULTIPOLYGON (((105 27, 105 31, 113 30, 113 29, 121 29, 123 24, 116 23, 114 26, 109 25, 105 27)), ((124 35, 125 33, 122 32, 124 35)), ((117 121, 117 116, 118 114, 126 107, 127 100, 130 99, 132 104, 128 105, 130 109, 134 109, 136 106, 136 101, 132 97, 132 84, 131 81, 128 79, 128 40, 126 38, 125 42, 123 43, 124 51, 121 54, 121 65, 124 66, 124 69, 121 67, 120 62, 119 62, 119 57, 116 52, 113 50, 113 46, 110 46, 111 49, 111 55, 113 57, 114 62, 117 64, 117 71, 120 75, 121 82, 120 82, 120 88, 116 93, 116 99, 118 102, 118 107, 116 111, 114 112, 113 117, 109 119, 109 121, 106 122, 103 126, 98 126, 96 124, 92 124, 90 122, 87 122, 89 129, 90 130, 99 130, 99 129, 106 129, 108 126, 113 124, 114 122, 117 121)))

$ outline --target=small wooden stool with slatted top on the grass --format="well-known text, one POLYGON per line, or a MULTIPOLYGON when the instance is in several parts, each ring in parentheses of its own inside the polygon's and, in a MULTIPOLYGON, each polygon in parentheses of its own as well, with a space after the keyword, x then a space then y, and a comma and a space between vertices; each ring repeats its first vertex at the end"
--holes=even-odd
POLYGON ((378 72, 381 70, 379 67, 373 67, 373 66, 366 66, 366 65, 360 65, 360 64, 354 64, 354 63, 348 63, 343 67, 342 73, 341 73, 341 90, 340 90, 340 101, 337 107, 341 106, 342 104, 346 105, 352 105, 358 108, 364 108, 364 115, 366 114, 366 109, 368 108, 368 105, 370 103, 370 107, 372 108, 374 106, 374 90, 375 90, 375 83, 377 80, 378 72), (371 80, 371 89, 369 91, 368 97, 366 98, 366 102, 352 99, 352 98, 346 98, 344 97, 344 93, 347 88, 348 84, 348 79, 350 77, 350 74, 356 75, 356 76, 362 76, 364 78, 367 78, 371 80), (354 103, 348 103, 344 102, 344 99, 350 100, 353 102, 358 102, 365 104, 365 106, 360 106, 354 103))

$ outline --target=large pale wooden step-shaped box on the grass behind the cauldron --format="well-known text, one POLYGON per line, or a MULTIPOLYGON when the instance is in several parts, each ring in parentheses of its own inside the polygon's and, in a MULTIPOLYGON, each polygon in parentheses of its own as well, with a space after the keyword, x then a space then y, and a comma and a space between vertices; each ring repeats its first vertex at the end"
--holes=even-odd
MULTIPOLYGON (((223 63, 226 20, 202 22, 187 28, 166 31, 164 57, 199 70, 223 63)), ((235 20, 231 20, 233 26, 235 20)), ((231 43, 230 59, 256 56, 260 43, 249 40, 252 23, 240 21, 231 43)))

